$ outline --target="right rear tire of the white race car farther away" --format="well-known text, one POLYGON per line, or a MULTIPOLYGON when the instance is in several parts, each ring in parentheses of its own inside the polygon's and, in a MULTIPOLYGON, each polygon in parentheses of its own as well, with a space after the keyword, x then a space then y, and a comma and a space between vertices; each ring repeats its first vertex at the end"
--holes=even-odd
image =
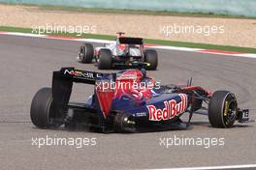
POLYGON ((150 66, 147 66, 145 69, 148 71, 155 71, 158 65, 157 52, 153 49, 146 49, 144 51, 144 55, 145 55, 145 62, 150 64, 150 66))

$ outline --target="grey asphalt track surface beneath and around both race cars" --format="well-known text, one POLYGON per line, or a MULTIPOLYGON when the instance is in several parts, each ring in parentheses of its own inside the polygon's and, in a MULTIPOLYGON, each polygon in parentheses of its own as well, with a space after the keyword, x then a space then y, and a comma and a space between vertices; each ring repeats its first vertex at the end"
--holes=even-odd
MULTIPOLYGON (((0 169, 141 169, 256 163, 255 123, 210 128, 208 117, 196 115, 193 128, 135 134, 102 134, 79 128, 39 129, 30 122, 31 99, 50 86, 61 67, 97 70, 76 61, 80 42, 0 36, 0 169), (38 146, 36 137, 97 138, 96 146, 38 146), (224 138, 224 146, 160 146, 160 138, 224 138)), ((210 91, 228 89, 240 107, 256 108, 256 60, 184 51, 158 50, 162 84, 193 84, 210 91)), ((72 99, 84 100, 90 85, 76 85, 72 99)), ((255 119, 251 110, 251 118, 255 119)))

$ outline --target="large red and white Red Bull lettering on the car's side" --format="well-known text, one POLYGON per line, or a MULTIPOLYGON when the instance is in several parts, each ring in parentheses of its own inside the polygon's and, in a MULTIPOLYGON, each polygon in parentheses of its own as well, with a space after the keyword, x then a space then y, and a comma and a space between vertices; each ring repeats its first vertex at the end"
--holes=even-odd
POLYGON ((179 94, 180 102, 176 103, 175 99, 164 101, 165 107, 156 109, 154 105, 147 105, 146 108, 149 113, 149 121, 165 121, 173 119, 180 113, 186 111, 187 108, 187 96, 185 94, 179 94))

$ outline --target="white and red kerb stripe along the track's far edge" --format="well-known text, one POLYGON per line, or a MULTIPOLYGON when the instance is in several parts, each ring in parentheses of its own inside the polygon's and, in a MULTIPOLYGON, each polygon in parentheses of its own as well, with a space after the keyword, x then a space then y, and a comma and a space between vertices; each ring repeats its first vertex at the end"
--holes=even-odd
MULTIPOLYGON (((29 34, 29 33, 16 33, 16 32, 1 32, 1 31, 0 31, 0 35, 44 38, 44 39, 76 41, 76 42, 98 42, 98 43, 113 42, 113 41, 96 40, 96 39, 76 39, 76 38, 61 37, 61 36, 58 37, 58 36, 37 35, 37 34, 29 34)), ((146 44, 145 44, 145 46, 146 46, 146 44)), ((227 53, 226 51, 221 51, 221 50, 205 51, 205 49, 201 49, 201 48, 177 47, 177 46, 167 46, 167 45, 149 45, 147 47, 157 48, 157 49, 179 50, 179 51, 188 51, 188 52, 200 52, 200 53, 208 53, 208 54, 236 56, 236 57, 243 57, 243 58, 256 58, 256 54, 252 54, 252 53, 232 53, 232 52, 227 53)))

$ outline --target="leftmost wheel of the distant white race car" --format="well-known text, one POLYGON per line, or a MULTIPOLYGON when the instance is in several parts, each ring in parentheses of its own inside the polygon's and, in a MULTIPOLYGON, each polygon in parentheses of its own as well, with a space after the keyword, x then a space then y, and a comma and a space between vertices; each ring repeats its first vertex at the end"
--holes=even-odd
POLYGON ((84 43, 80 46, 80 62, 81 63, 91 63, 93 59, 93 46, 90 43, 84 43))

